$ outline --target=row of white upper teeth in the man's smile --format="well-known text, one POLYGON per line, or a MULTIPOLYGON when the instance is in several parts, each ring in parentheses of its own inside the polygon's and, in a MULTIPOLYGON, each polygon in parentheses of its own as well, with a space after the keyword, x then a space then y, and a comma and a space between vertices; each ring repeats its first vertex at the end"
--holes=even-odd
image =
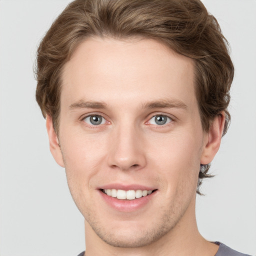
POLYGON ((111 196, 111 197, 117 197, 117 199, 128 199, 133 200, 135 198, 140 198, 142 196, 146 196, 148 194, 152 193, 152 190, 122 190, 122 189, 104 189, 103 190, 105 194, 111 196))

